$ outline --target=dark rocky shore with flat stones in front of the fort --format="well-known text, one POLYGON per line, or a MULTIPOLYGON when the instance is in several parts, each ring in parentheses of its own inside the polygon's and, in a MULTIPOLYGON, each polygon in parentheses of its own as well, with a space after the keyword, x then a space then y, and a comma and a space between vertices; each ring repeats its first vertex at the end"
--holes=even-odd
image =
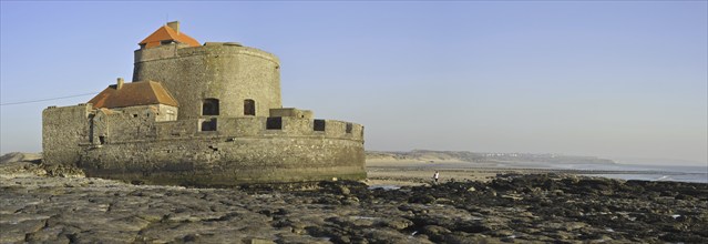
POLYGON ((20 165, 0 172, 0 243, 708 243, 700 183, 500 174, 186 189, 20 165))

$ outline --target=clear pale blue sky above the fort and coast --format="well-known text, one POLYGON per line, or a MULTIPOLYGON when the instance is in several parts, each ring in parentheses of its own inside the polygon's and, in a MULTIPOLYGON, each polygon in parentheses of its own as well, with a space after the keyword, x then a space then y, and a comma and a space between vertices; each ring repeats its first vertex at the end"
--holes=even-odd
MULTIPOLYGON (((6 2, 2 103, 131 79, 170 20, 281 61, 285 106, 366 125, 367 150, 708 161, 706 1, 6 2)), ((41 151, 41 111, 1 106, 1 151, 41 151)), ((684 162, 685 163, 685 162, 684 162)))

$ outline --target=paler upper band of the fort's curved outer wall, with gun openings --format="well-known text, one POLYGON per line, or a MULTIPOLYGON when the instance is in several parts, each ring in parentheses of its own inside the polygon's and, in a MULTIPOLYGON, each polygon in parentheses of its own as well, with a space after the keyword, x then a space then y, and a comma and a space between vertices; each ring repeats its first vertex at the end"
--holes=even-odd
POLYGON ((96 115, 93 116, 94 140, 92 142, 98 142, 98 136, 104 136, 103 144, 208 136, 229 139, 310 136, 343 139, 363 143, 363 126, 361 124, 336 120, 322 120, 326 124, 325 130, 315 131, 315 120, 301 118, 277 118, 280 120, 280 129, 268 129, 269 118, 213 118, 216 130, 202 131, 201 123, 204 121, 203 119, 156 122, 154 116, 151 116, 151 113, 140 112, 144 111, 113 111, 110 115, 104 115, 105 112, 99 110, 96 115), (151 120, 151 118, 153 119, 151 120))

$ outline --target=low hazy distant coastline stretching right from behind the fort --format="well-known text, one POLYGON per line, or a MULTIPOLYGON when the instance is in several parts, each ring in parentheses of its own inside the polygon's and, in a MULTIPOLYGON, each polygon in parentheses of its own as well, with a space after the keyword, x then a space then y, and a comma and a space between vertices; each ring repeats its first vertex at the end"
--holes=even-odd
POLYGON ((615 162, 607 159, 596 156, 574 156, 560 155, 552 153, 533 154, 533 153, 480 153, 468 151, 431 151, 431 150, 413 150, 410 152, 380 152, 367 151, 367 161, 378 162, 470 162, 470 163, 490 163, 490 162, 514 162, 514 163, 563 163, 563 164, 614 164, 615 162))

